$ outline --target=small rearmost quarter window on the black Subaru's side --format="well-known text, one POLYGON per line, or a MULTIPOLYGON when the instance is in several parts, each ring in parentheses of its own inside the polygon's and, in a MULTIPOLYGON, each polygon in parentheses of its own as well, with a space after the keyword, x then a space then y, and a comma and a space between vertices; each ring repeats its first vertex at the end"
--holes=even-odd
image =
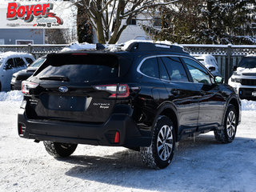
POLYGON ((140 70, 141 70, 142 74, 146 74, 149 77, 159 78, 157 58, 146 59, 142 63, 140 70))

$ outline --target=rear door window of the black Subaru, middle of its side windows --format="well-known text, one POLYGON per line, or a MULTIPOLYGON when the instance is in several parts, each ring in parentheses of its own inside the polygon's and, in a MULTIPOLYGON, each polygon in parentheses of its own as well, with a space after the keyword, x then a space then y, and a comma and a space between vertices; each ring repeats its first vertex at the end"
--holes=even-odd
POLYGON ((171 81, 188 82, 186 71, 182 66, 182 62, 179 58, 175 57, 162 57, 162 62, 166 65, 166 69, 170 76, 171 81))

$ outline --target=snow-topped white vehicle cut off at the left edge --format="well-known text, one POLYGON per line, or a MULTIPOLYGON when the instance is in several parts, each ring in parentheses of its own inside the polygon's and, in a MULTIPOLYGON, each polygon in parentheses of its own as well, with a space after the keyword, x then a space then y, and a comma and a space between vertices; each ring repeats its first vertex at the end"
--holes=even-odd
POLYGON ((0 54, 0 91, 10 90, 12 75, 18 70, 26 69, 34 62, 32 54, 6 52, 0 54))

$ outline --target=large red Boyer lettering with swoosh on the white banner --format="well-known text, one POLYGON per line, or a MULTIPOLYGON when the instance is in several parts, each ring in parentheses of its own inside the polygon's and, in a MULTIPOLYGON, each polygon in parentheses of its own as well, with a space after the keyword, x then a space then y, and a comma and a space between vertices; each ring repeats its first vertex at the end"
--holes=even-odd
POLYGON ((21 6, 18 2, 8 3, 7 20, 23 19, 25 22, 33 22, 34 18, 55 18, 59 25, 63 24, 62 18, 58 18, 56 14, 50 13, 54 4, 36 4, 21 6))

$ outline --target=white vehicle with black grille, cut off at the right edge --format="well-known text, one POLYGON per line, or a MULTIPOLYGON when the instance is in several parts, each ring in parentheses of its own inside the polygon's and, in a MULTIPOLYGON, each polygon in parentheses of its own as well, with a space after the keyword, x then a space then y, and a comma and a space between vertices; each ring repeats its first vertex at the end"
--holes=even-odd
POLYGON ((240 98, 256 101, 256 56, 242 58, 233 70, 234 74, 229 79, 229 85, 240 98))

